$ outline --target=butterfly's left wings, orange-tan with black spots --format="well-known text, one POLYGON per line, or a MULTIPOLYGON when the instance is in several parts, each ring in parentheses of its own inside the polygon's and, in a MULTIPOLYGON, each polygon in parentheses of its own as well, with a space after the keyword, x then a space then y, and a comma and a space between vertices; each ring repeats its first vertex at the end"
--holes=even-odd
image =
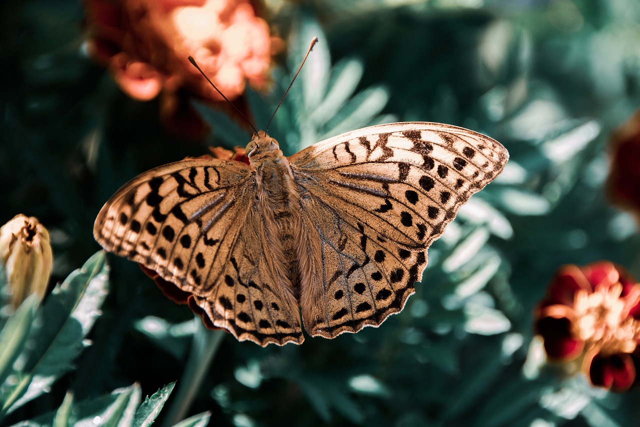
POLYGON ((214 326, 262 346, 302 342, 300 316, 271 271, 255 174, 241 162, 184 160, 141 174, 104 205, 95 239, 191 292, 214 326))

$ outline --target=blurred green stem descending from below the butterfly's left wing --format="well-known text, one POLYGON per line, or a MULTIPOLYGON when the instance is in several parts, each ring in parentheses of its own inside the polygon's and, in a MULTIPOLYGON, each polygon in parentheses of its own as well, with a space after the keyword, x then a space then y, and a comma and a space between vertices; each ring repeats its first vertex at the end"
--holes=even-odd
POLYGON ((196 316, 193 321, 196 324, 196 331, 191 342, 191 351, 187 360, 182 379, 177 383, 177 394, 172 399, 169 410, 164 418, 163 427, 173 426, 182 421, 187 414, 191 403, 195 398, 202 380, 204 380, 209 365, 216 355, 218 347, 223 337, 227 335, 225 331, 208 330, 202 323, 202 318, 196 316))

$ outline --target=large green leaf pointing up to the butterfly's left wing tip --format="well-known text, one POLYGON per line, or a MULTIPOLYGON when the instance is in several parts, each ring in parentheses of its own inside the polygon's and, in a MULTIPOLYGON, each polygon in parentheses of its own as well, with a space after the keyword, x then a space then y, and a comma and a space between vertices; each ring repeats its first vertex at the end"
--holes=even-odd
POLYGON ((29 350, 20 381, 5 396, 0 413, 8 413, 48 390, 71 369, 71 362, 86 346, 84 337, 99 315, 106 296, 108 266, 104 252, 93 255, 81 269, 53 290, 42 312, 42 325, 29 335, 29 350))

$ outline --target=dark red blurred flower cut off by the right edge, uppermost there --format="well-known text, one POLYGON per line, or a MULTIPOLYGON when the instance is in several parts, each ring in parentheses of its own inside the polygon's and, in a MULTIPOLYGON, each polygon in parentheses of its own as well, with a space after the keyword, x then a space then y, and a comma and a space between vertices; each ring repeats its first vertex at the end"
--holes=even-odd
POLYGON ((640 217, 640 110, 611 135, 609 197, 640 217))

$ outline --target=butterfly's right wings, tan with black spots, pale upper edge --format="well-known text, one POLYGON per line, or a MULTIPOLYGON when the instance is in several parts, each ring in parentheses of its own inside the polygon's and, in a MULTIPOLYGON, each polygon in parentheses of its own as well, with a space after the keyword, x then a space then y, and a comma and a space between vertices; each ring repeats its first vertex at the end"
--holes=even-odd
POLYGON ((431 242, 507 160, 492 138, 429 122, 372 126, 291 156, 305 329, 332 338, 400 312, 431 242))

